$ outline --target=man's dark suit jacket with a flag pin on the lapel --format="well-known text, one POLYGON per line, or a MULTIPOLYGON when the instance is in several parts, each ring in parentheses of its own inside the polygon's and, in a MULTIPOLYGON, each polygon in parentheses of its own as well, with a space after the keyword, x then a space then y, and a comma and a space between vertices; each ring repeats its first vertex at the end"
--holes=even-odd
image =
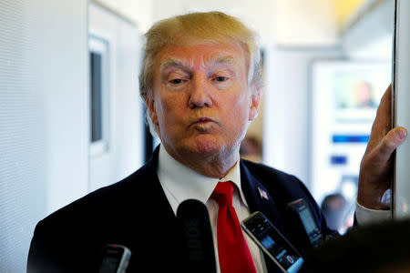
MULTIPOLYGON (((41 220, 31 242, 27 272, 95 272, 106 244, 132 252, 128 272, 179 272, 180 236, 175 214, 157 176, 159 148, 149 162, 118 183, 102 187, 41 220)), ((333 232, 296 177, 241 160, 241 187, 251 212, 259 210, 299 251, 309 248, 286 204, 304 198, 323 234, 333 232), (262 198, 259 188, 268 193, 262 198)), ((277 268, 265 257, 269 272, 277 268)))

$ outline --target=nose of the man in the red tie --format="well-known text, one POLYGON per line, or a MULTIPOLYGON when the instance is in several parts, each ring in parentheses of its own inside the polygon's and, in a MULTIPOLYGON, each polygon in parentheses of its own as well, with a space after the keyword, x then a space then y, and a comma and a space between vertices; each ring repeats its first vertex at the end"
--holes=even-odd
POLYGON ((189 106, 191 109, 197 107, 212 106, 211 86, 206 76, 193 76, 190 86, 189 106))

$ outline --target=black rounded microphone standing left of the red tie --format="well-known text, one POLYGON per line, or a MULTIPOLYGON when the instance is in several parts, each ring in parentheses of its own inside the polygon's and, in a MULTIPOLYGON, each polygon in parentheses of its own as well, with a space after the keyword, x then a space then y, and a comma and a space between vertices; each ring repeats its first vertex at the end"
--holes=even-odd
POLYGON ((216 273, 215 252, 208 209, 199 200, 183 201, 177 209, 182 232, 186 272, 216 273))

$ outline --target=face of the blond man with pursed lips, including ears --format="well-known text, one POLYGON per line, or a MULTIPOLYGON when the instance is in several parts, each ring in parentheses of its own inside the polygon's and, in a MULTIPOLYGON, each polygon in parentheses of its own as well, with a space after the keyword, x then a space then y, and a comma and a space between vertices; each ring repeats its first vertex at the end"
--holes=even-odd
POLYGON ((249 90, 245 50, 231 44, 191 43, 163 48, 154 64, 152 122, 169 154, 231 155, 239 150, 260 95, 249 90))

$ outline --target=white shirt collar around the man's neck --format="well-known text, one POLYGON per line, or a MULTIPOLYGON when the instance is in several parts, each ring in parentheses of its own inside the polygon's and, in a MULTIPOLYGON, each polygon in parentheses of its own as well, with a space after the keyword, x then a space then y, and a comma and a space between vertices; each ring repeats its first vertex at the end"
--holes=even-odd
MULTIPOLYGON (((241 168, 239 160, 230 172, 222 178, 206 177, 179 163, 169 156, 167 150, 159 147, 159 181, 166 187, 178 205, 187 199, 198 199, 206 203, 218 182, 232 181, 240 191, 241 201, 248 207, 241 190, 241 168)), ((176 213, 176 208, 172 207, 176 213)))

